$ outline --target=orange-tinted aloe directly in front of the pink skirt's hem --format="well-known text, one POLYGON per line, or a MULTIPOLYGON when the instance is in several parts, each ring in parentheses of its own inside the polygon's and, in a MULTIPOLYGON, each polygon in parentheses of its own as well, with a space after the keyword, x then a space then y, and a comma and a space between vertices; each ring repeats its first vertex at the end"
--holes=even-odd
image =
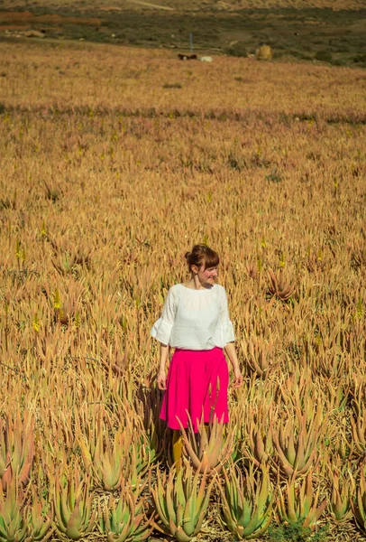
POLYGON ((226 425, 214 417, 209 425, 205 425, 204 420, 201 419, 197 424, 198 434, 195 434, 190 419, 188 429, 180 424, 180 430, 185 444, 185 453, 199 472, 207 474, 220 472, 223 464, 230 460, 235 427, 230 427, 227 435, 224 435, 227 430, 226 425))

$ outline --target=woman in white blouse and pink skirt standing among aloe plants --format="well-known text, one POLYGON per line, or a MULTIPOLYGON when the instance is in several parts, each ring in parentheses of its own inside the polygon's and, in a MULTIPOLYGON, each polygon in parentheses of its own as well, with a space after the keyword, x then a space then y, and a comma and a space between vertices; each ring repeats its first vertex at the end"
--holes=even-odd
POLYGON ((219 257, 206 245, 195 245, 186 260, 190 279, 170 287, 161 317, 151 330, 160 341, 158 387, 165 390, 160 418, 174 430, 174 462, 180 459, 182 448, 179 422, 187 427, 189 416, 197 432, 202 416, 205 423, 214 417, 229 421, 224 351, 233 366, 233 387, 242 385, 226 293, 216 284, 219 257), (169 348, 175 352, 167 378, 169 348))

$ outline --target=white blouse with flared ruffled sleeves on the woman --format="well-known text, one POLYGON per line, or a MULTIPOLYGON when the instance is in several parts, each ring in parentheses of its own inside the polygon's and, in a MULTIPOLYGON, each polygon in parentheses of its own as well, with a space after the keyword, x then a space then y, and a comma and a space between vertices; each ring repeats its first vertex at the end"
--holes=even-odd
POLYGON ((222 285, 194 290, 184 285, 169 289, 160 319, 151 335, 162 344, 183 350, 224 348, 234 341, 233 323, 222 285))

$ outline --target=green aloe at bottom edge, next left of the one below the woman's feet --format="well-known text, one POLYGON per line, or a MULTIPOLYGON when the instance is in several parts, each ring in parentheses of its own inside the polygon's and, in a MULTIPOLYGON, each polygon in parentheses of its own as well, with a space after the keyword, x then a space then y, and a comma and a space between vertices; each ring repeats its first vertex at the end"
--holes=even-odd
POLYGON ((99 503, 99 528, 108 542, 142 542, 150 537, 153 527, 151 519, 145 516, 143 488, 141 483, 135 491, 124 487, 118 500, 110 495, 103 505, 99 503))

